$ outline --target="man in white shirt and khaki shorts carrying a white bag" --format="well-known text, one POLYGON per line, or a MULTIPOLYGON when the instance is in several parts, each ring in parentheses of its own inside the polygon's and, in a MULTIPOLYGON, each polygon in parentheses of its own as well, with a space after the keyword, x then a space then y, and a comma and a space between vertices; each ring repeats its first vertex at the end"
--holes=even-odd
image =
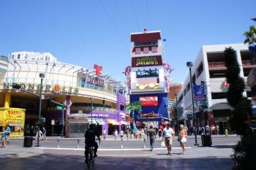
POLYGON ((164 128, 163 131, 163 139, 165 140, 165 145, 167 147, 167 155, 172 155, 172 144, 175 136, 175 132, 173 131, 173 128, 170 128, 170 123, 167 123, 166 127, 164 128))

